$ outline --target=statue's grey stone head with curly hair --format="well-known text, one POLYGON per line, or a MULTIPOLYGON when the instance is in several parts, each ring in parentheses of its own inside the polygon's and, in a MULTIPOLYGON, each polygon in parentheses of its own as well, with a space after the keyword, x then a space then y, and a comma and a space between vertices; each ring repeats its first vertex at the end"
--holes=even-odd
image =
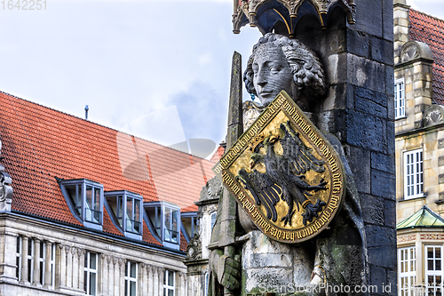
POLYGON ((301 94, 319 97, 327 91, 316 54, 297 39, 267 33, 253 47, 243 75, 247 91, 268 105, 282 90, 293 100, 301 94))

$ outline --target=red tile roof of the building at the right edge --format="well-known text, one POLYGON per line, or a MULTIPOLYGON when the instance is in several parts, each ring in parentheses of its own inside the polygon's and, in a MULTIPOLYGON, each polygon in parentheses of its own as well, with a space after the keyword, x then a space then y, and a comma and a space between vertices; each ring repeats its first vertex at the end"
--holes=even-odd
POLYGON ((444 20, 410 9, 409 39, 428 44, 433 53, 433 101, 444 105, 444 20))

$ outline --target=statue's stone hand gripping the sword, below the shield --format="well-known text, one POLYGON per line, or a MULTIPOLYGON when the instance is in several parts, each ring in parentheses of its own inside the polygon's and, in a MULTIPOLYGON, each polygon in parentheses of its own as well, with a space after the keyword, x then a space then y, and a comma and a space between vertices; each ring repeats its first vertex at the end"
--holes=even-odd
POLYGON ((236 290, 241 286, 241 256, 234 259, 226 255, 218 260, 218 282, 228 290, 236 290))

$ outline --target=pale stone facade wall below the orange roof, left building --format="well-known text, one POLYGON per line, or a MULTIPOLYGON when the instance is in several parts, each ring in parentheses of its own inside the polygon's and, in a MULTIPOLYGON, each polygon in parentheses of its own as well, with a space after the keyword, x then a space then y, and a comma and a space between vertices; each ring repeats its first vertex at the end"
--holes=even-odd
MULTIPOLYGON (((118 238, 57 226, 10 213, 0 215, 0 294, 2 295, 84 295, 84 260, 88 252, 97 254, 96 295, 125 295, 125 265, 137 263, 137 295, 163 295, 165 270, 174 272, 175 295, 186 295, 186 267, 184 258, 172 252, 155 250, 143 244, 131 244, 118 238), (55 245, 55 282, 52 283, 51 257, 46 255, 44 284, 40 281, 40 265, 27 266, 22 256, 21 280, 17 278, 16 254, 18 237, 21 253, 28 253, 28 245, 45 243, 44 252, 50 255, 55 245), (31 282, 28 271, 34 270, 31 282)), ((34 248, 38 258, 40 249, 34 248)), ((36 262, 36 260, 34 260, 36 262)))

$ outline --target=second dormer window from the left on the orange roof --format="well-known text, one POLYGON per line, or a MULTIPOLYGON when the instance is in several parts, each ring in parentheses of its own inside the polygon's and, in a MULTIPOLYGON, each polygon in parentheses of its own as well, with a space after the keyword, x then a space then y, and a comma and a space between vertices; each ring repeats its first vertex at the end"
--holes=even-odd
POLYGON ((141 239, 143 197, 130 191, 107 191, 105 198, 125 236, 141 239))

